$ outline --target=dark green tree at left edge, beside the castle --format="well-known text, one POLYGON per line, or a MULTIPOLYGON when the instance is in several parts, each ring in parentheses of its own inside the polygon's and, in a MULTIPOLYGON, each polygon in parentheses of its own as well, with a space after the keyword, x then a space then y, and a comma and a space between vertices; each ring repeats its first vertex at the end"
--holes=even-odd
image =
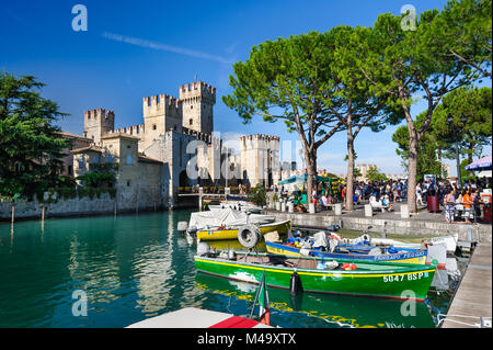
POLYGON ((0 74, 0 193, 26 197, 60 185, 69 142, 54 122, 67 115, 36 91, 31 76, 0 74))

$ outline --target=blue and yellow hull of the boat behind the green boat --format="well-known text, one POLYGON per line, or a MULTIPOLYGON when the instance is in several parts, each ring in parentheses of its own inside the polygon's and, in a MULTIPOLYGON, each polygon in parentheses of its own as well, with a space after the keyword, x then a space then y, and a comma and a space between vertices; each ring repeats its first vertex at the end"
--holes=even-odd
MULTIPOLYGON (((283 255, 288 257, 300 257, 300 248, 289 247, 283 244, 265 242, 267 251, 271 253, 283 255)), ((426 263, 426 250, 405 251, 399 253, 389 253, 380 256, 369 256, 362 253, 337 253, 329 251, 320 251, 310 249, 310 255, 313 257, 326 258, 326 259, 354 259, 356 261, 375 261, 375 262, 399 262, 399 263, 426 263)))

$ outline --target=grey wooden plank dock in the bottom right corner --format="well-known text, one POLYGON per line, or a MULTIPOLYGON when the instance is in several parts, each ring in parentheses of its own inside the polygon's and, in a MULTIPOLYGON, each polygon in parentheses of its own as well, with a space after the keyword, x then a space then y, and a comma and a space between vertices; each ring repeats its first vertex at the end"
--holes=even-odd
POLYGON ((442 328, 477 328, 480 317, 491 324, 491 244, 485 242, 474 249, 442 328))

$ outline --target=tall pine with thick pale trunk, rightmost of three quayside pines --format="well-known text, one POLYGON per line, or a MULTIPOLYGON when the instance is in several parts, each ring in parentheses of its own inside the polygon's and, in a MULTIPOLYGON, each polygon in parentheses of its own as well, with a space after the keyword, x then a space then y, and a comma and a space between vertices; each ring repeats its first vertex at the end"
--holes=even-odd
MULTIPOLYGON (((364 76, 371 82, 371 93, 376 95, 389 94, 393 97, 389 100, 390 105, 401 108, 406 120, 409 132, 408 146, 408 197, 410 212, 416 212, 414 185, 419 171, 419 159, 423 138, 431 128, 432 116, 439 105, 445 94, 460 87, 478 81, 483 75, 481 70, 471 64, 459 59, 451 54, 446 43, 455 41, 457 32, 455 27, 471 21, 474 16, 482 16, 491 22, 491 0, 467 0, 465 3, 489 3, 488 11, 463 12, 463 16, 455 16, 454 22, 446 25, 450 19, 446 18, 447 7, 444 11, 429 10, 420 13, 415 30, 405 30, 401 22, 401 16, 390 13, 378 16, 372 29, 363 31, 365 35, 362 46, 362 59, 358 66, 364 71, 364 76), (423 97, 427 104, 427 110, 420 126, 411 114, 411 105, 417 98, 423 97)), ((449 7, 461 7, 458 2, 449 2, 449 7)), ((488 27, 482 27, 488 30, 488 27)), ((483 32, 484 33, 484 32, 483 32)), ((488 33, 488 31, 486 31, 488 33)), ((490 24, 491 35, 491 24, 490 24)), ((467 47, 471 44, 469 37, 462 45, 467 47)), ((491 66, 491 36, 486 39, 490 43, 490 53, 479 59, 479 65, 491 66)), ((474 47, 473 44, 471 44, 474 47)), ((488 45, 486 45, 488 46, 488 45)), ((486 48, 488 52, 488 48, 486 48)), ((433 158, 435 159, 435 158, 433 158)), ((440 173, 440 172, 438 172, 440 173)))

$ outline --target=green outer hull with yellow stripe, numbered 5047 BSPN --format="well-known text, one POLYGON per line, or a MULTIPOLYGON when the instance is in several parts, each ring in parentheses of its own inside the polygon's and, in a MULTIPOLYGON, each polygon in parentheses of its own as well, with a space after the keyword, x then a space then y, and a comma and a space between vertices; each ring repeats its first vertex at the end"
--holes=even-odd
MULTIPOLYGON (((434 267, 385 262, 372 264, 372 268, 376 268, 375 271, 296 269, 296 272, 305 292, 415 301, 426 298, 435 274, 434 267)), ((291 274, 295 271, 288 267, 207 257, 195 257, 195 268, 204 273, 255 284, 260 283, 265 271, 266 284, 280 289, 289 289, 291 274)))

